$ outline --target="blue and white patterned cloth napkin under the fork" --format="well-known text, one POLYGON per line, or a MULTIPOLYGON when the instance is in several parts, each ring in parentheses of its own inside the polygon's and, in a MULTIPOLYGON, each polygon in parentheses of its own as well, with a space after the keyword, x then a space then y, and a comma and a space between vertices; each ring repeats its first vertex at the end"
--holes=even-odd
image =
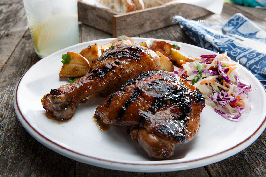
MULTIPOLYGON (((188 20, 181 16, 174 16, 173 20, 179 23, 186 34, 200 47, 219 53, 227 52, 230 58, 239 61, 240 64, 250 70, 266 89, 266 49, 257 50, 238 39, 202 26, 194 20, 188 20)), ((265 31, 241 13, 232 16, 222 26, 222 29, 266 44, 265 31)))

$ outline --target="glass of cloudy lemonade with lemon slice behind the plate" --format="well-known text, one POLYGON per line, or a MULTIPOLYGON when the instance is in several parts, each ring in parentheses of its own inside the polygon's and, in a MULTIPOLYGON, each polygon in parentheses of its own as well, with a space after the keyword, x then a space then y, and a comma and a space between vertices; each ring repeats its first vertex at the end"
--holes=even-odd
POLYGON ((23 0, 36 54, 79 43, 77 0, 23 0))

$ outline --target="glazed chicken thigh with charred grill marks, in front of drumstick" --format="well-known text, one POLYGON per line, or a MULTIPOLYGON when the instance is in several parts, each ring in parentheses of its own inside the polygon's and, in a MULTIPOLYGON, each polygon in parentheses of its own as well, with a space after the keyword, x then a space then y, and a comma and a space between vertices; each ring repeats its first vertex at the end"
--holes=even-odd
POLYGON ((131 137, 150 157, 166 159, 173 144, 192 140, 200 126, 205 98, 185 79, 151 71, 127 81, 101 103, 95 115, 111 125, 131 126, 131 137))

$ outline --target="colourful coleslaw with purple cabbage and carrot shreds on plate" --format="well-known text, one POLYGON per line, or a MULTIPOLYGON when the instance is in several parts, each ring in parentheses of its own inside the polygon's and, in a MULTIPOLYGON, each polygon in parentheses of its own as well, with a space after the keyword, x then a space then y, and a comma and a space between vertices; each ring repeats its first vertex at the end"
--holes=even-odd
POLYGON ((180 62, 183 68, 174 73, 192 82, 219 115, 238 119, 243 111, 251 111, 247 94, 257 89, 251 89, 249 83, 240 79, 239 62, 232 61, 226 53, 201 55, 193 62, 180 62))

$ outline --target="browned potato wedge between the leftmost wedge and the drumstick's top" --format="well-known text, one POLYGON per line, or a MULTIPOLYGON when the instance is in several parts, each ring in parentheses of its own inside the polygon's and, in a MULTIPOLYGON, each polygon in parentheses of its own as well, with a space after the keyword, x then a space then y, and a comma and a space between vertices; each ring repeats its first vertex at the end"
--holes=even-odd
POLYGON ((101 46, 99 44, 89 45, 87 48, 83 49, 80 54, 88 60, 92 68, 96 60, 102 55, 101 46))

